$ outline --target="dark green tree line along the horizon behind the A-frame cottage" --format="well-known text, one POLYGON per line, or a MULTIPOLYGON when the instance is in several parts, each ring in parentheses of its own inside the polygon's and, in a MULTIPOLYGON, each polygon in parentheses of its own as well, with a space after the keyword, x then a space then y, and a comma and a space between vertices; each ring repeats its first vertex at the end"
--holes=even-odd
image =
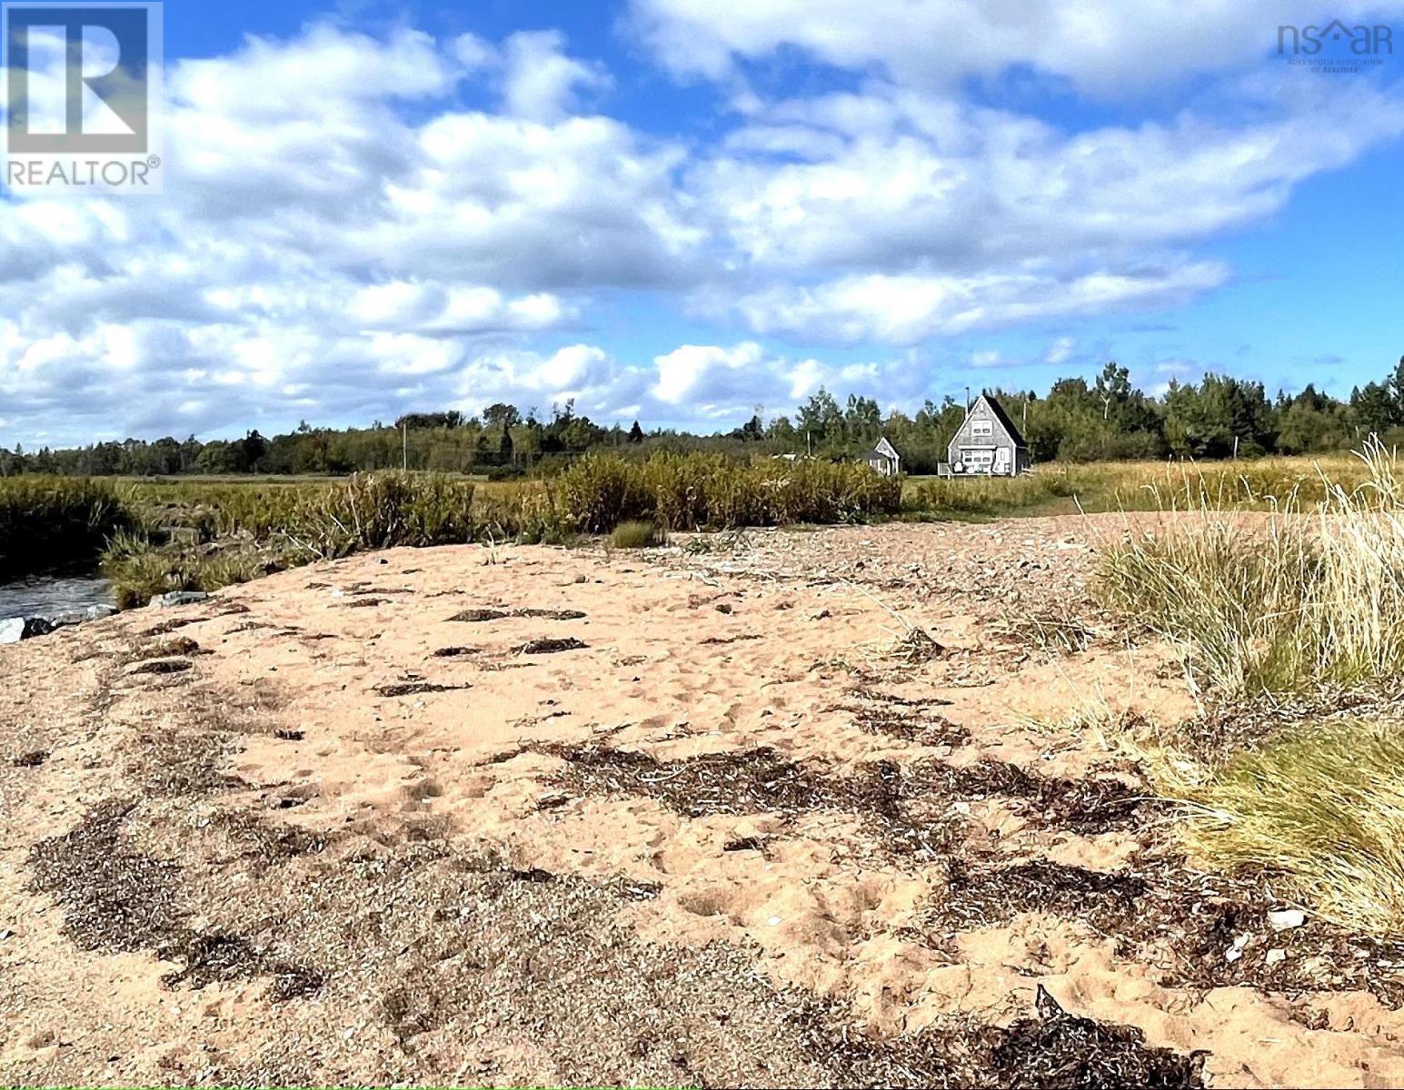
MULTIPOLYGON (((1151 396, 1136 389, 1126 368, 1112 362, 1088 383, 1059 379, 1033 391, 988 390, 1019 425, 1038 462, 1127 459, 1223 459, 1262 455, 1311 455, 1359 445, 1375 433, 1404 439, 1404 358, 1393 373, 1339 400, 1313 384, 1296 394, 1269 397, 1259 382, 1206 375, 1199 383, 1170 383, 1151 396)), ((535 410, 497 403, 479 415, 459 411, 414 412, 393 425, 313 428, 300 424, 286 435, 243 439, 194 436, 178 440, 126 439, 83 448, 13 450, 0 448, 0 476, 154 477, 178 474, 345 474, 396 469, 486 473, 503 478, 550 473, 597 449, 713 450, 744 457, 755 453, 812 453, 854 457, 886 436, 911 473, 934 473, 965 417, 965 405, 946 397, 917 412, 883 414, 872 397, 849 394, 842 404, 820 389, 792 415, 769 421, 757 408, 740 428, 713 435, 644 431, 595 424, 573 401, 535 410)))

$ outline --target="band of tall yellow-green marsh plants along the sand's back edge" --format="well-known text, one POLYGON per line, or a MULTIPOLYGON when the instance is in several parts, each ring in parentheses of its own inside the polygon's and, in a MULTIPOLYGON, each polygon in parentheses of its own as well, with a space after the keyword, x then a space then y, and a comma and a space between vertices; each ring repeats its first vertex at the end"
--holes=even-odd
POLYGON ((129 540, 105 561, 121 602, 212 591, 264 571, 392 546, 515 539, 567 541, 646 523, 701 527, 855 522, 897 513, 901 484, 866 466, 737 463, 706 455, 632 462, 591 455, 545 481, 477 485, 438 474, 362 473, 345 481, 136 487, 149 525, 197 543, 129 540), (208 543, 225 547, 209 549, 208 543))

